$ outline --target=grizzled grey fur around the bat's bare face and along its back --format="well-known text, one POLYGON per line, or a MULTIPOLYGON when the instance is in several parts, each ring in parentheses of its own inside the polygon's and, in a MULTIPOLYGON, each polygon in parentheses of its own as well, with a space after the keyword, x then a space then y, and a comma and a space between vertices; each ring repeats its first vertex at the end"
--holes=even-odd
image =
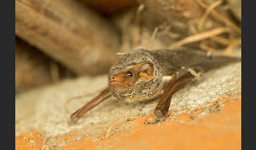
MULTIPOLYGON (((127 71, 127 68, 139 65, 142 62, 151 62, 154 67, 154 76, 149 81, 142 81, 130 88, 120 90, 111 88, 114 97, 119 100, 131 102, 149 100, 160 97, 166 85, 162 80, 174 72, 186 72, 181 68, 192 68, 199 72, 220 67, 225 62, 238 61, 231 57, 208 57, 206 52, 200 50, 136 50, 125 54, 110 68, 110 76, 127 71), (227 61, 228 60, 228 61, 227 61), (231 60, 231 61, 229 61, 231 60), (209 68, 210 67, 210 68, 209 68), (181 71, 183 70, 183 71, 181 71)), ((181 74, 180 74, 181 75, 181 74)))

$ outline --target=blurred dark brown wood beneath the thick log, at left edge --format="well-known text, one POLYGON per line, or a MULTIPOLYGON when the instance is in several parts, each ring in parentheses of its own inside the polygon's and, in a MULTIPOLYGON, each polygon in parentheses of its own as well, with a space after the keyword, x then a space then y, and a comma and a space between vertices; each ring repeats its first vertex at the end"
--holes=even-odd
POLYGON ((19 38, 15 42, 15 92, 53 83, 49 68, 52 60, 19 38))

